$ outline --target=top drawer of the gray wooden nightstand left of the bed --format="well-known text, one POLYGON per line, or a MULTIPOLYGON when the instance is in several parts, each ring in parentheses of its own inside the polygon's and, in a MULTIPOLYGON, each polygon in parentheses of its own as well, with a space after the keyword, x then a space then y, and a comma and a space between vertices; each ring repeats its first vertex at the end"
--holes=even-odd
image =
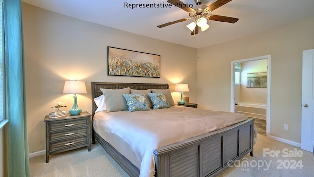
POLYGON ((75 127, 83 127, 83 126, 87 126, 87 125, 88 125, 88 119, 50 123, 49 124, 49 132, 56 131, 56 130, 75 128, 75 127))

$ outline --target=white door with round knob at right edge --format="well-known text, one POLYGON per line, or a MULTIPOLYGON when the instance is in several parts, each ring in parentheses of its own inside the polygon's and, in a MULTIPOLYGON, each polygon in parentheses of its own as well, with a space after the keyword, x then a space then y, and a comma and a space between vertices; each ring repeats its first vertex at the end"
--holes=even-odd
POLYGON ((314 144, 314 49, 303 51, 301 148, 313 152, 314 144))

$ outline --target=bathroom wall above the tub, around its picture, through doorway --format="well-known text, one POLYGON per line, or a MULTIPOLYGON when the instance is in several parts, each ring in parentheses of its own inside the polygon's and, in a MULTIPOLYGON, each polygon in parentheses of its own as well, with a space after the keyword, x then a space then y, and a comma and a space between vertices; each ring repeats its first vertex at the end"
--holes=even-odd
POLYGON ((242 62, 240 101, 250 103, 267 103, 267 88, 247 88, 248 73, 267 72, 267 59, 242 62))

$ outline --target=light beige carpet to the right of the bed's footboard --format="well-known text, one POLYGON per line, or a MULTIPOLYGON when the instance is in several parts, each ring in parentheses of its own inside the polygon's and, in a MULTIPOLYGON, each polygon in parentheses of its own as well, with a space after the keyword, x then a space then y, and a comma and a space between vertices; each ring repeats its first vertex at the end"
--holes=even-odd
POLYGON ((217 175, 217 177, 226 176, 314 177, 314 158, 311 152, 258 134, 258 140, 254 146, 254 157, 249 154, 245 155, 234 166, 217 175), (303 155, 298 155, 294 152, 295 150, 303 155), (276 157, 275 151, 278 151, 278 157, 276 157), (270 154, 267 154, 267 152, 270 154), (292 157, 285 157, 287 154, 292 157), (248 166, 245 166, 247 162, 248 166), (258 167, 259 165, 260 167, 258 167))

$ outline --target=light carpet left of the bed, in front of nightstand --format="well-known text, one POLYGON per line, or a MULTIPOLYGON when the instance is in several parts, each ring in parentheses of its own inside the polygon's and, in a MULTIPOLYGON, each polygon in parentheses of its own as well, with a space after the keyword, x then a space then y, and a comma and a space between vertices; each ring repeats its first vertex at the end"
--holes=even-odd
POLYGON ((29 159, 31 177, 129 177, 128 174, 108 155, 103 147, 92 144, 87 148, 29 159))

